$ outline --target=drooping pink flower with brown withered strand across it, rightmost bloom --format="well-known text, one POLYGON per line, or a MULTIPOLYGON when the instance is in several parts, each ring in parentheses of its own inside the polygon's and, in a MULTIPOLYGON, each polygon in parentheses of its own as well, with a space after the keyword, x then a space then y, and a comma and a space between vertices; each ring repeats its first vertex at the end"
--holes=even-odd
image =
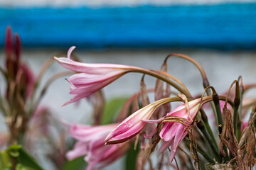
MULTIPOLYGON (((188 120, 188 125, 190 125, 191 121, 194 120, 194 118, 196 117, 196 113, 198 111, 198 107, 200 106, 200 103, 201 103, 201 98, 188 102, 189 113, 191 115, 191 118, 189 117, 188 110, 185 104, 178 106, 170 113, 167 113, 165 118, 168 118, 168 116, 185 118, 186 120, 188 120)), ((164 120, 164 118, 161 118, 159 120, 144 120, 144 122, 159 123, 161 122, 161 120, 164 120)), ((188 134, 188 132, 186 131, 186 128, 188 127, 188 125, 183 125, 178 122, 163 123, 163 128, 159 133, 161 139, 163 139, 159 152, 164 152, 167 148, 171 147, 171 155, 170 155, 171 162, 174 159, 178 145, 180 145, 183 138, 186 137, 186 135, 188 134)))

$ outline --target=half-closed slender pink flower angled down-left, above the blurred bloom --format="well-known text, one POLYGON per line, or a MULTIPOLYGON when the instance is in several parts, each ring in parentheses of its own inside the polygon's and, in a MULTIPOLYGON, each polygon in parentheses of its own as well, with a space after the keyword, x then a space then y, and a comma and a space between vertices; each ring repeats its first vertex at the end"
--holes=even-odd
POLYGON ((115 128, 114 131, 112 131, 110 135, 107 136, 105 140, 106 143, 114 144, 131 139, 137 135, 146 125, 146 122, 142 120, 149 120, 156 108, 163 105, 164 103, 168 103, 169 101, 170 98, 163 98, 132 113, 132 115, 122 121, 122 123, 120 123, 117 128, 115 128))

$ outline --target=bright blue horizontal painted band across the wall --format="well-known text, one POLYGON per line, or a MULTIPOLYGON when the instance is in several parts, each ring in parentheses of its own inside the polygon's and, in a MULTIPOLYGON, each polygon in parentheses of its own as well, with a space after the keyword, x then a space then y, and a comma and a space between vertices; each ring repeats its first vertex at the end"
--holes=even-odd
POLYGON ((256 3, 119 8, 0 8, 26 47, 256 49, 256 3))

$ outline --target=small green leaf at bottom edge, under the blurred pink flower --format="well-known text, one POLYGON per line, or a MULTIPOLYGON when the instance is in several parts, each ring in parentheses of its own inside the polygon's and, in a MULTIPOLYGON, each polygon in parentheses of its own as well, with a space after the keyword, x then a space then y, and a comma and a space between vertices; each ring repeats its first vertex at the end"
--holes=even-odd
POLYGON ((87 164, 84 160, 84 156, 82 156, 65 163, 63 170, 84 170, 86 166, 87 164))

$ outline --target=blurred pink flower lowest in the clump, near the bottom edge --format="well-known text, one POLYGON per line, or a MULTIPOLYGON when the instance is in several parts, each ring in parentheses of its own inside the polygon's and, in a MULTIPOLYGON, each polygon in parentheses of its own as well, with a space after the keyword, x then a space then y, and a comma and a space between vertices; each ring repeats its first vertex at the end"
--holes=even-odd
POLYGON ((86 155, 87 170, 96 166, 101 168, 111 164, 119 157, 122 157, 129 148, 129 143, 127 142, 117 145, 105 145, 105 137, 117 125, 71 125, 68 132, 78 142, 75 144, 74 149, 66 154, 66 157, 71 160, 86 155))

